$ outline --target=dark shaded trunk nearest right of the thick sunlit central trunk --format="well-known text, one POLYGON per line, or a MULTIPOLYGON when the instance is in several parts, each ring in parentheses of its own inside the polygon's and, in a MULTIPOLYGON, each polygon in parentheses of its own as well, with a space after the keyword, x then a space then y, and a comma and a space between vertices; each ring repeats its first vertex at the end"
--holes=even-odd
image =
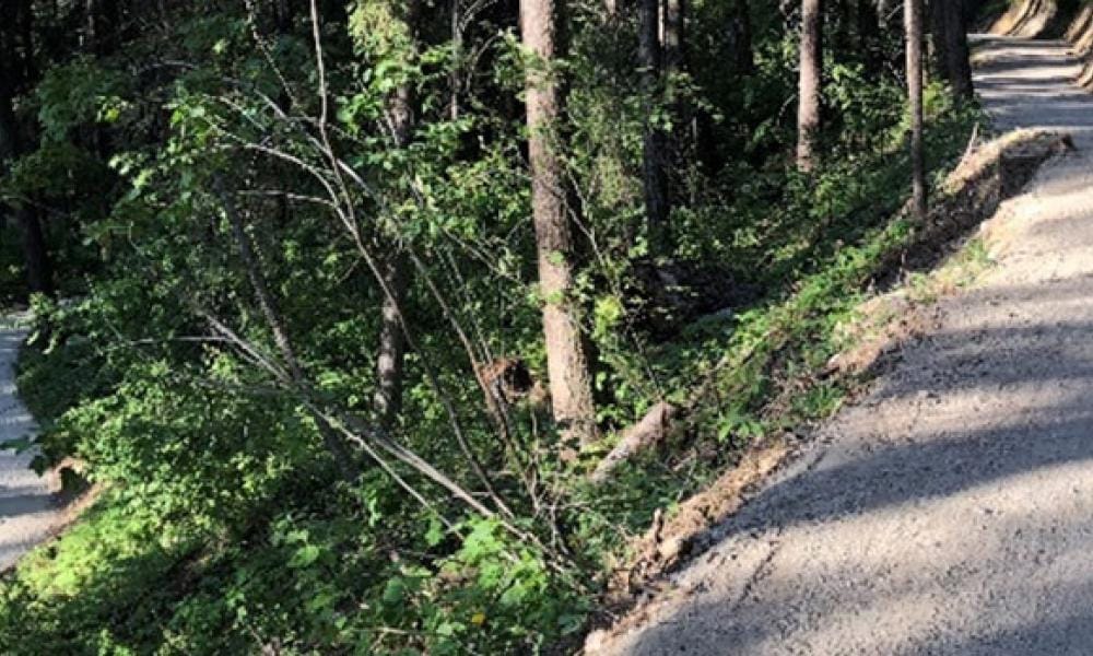
MULTIPOLYGON (((673 38, 678 38, 678 34, 673 38)), ((653 121, 660 98, 661 65, 660 2, 639 0, 638 63, 642 67, 642 93, 645 96, 645 130, 642 155, 642 177, 645 188, 645 218, 648 224, 649 248, 654 253, 670 250, 668 242, 668 180, 665 175, 663 131, 653 121)))

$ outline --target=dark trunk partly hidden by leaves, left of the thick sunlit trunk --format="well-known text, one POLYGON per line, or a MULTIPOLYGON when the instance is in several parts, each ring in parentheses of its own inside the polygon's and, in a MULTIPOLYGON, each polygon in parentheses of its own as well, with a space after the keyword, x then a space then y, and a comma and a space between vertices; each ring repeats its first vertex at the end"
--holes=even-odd
MULTIPOLYGON (((407 34, 416 39, 419 0, 392 2, 395 20, 403 23, 407 34), (400 8, 399 4, 402 4, 400 8)), ((391 141, 399 149, 410 145, 414 127, 414 93, 409 82, 399 85, 387 101, 387 121, 391 141)), ((389 294, 384 294, 380 308, 379 352, 376 360, 376 395, 373 405, 380 424, 388 429, 402 410, 402 379, 406 366, 406 336, 402 331, 400 314, 406 305, 410 268, 406 255, 393 253, 380 263, 384 284, 389 294)))

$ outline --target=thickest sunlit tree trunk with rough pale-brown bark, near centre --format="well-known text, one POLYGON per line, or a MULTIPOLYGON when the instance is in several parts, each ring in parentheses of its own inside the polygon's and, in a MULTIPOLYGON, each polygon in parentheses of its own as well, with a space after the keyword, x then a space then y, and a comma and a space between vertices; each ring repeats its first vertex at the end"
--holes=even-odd
MULTIPOLYGON (((557 56, 564 0, 520 0, 524 44, 548 65, 557 56)), ((543 332, 554 419, 566 441, 596 440, 596 414, 588 358, 572 298, 573 233, 566 216, 562 161, 550 133, 562 112, 561 87, 553 71, 527 71, 528 152, 531 160, 531 209, 543 295, 543 332)))

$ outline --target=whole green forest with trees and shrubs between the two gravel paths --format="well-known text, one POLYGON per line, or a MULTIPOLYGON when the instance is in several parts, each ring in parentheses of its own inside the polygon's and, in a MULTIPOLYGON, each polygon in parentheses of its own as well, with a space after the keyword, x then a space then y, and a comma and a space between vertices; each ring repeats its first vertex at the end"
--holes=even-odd
POLYGON ((979 4, 0 0, 0 306, 93 497, 0 651, 578 649, 849 394, 979 4))

